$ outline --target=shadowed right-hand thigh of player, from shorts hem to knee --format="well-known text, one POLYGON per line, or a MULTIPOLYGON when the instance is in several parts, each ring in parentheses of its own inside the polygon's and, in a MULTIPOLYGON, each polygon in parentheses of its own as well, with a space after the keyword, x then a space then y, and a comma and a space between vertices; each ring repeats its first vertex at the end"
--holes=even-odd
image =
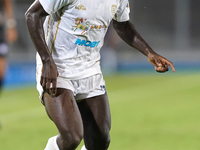
POLYGON ((107 136, 111 127, 107 94, 88 98, 78 103, 83 119, 84 137, 107 136))

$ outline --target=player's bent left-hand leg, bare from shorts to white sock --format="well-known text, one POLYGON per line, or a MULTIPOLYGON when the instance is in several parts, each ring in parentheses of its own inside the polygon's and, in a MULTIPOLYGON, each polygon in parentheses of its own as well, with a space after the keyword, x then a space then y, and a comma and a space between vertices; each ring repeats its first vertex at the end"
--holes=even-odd
POLYGON ((43 100, 48 116, 59 131, 59 135, 54 137, 54 145, 57 138, 60 150, 76 149, 83 138, 83 123, 73 93, 67 89, 58 89, 56 97, 45 93, 43 100))

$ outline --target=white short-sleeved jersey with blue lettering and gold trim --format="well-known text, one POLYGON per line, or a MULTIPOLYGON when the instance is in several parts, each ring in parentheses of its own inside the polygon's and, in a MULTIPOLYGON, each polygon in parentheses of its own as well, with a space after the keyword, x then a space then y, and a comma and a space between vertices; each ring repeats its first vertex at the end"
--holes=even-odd
MULTIPOLYGON (((49 14, 45 38, 59 76, 81 79, 100 69, 100 48, 112 19, 129 20, 128 0, 39 0, 49 14)), ((42 62, 37 54, 37 65, 42 62)))

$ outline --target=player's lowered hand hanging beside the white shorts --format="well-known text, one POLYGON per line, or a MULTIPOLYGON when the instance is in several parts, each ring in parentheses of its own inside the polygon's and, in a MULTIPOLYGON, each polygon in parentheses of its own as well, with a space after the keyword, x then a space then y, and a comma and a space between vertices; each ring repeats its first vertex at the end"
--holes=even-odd
POLYGON ((53 96, 55 96, 57 92, 57 77, 58 71, 55 63, 52 61, 43 63, 40 84, 42 85, 44 91, 53 96))

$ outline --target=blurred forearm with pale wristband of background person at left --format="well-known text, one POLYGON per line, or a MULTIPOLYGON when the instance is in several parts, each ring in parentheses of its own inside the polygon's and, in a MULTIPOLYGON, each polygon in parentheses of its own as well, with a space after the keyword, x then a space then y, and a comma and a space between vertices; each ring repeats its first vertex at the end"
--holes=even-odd
POLYGON ((6 39, 9 43, 17 40, 16 21, 13 14, 12 0, 3 0, 4 12, 6 15, 6 39))

